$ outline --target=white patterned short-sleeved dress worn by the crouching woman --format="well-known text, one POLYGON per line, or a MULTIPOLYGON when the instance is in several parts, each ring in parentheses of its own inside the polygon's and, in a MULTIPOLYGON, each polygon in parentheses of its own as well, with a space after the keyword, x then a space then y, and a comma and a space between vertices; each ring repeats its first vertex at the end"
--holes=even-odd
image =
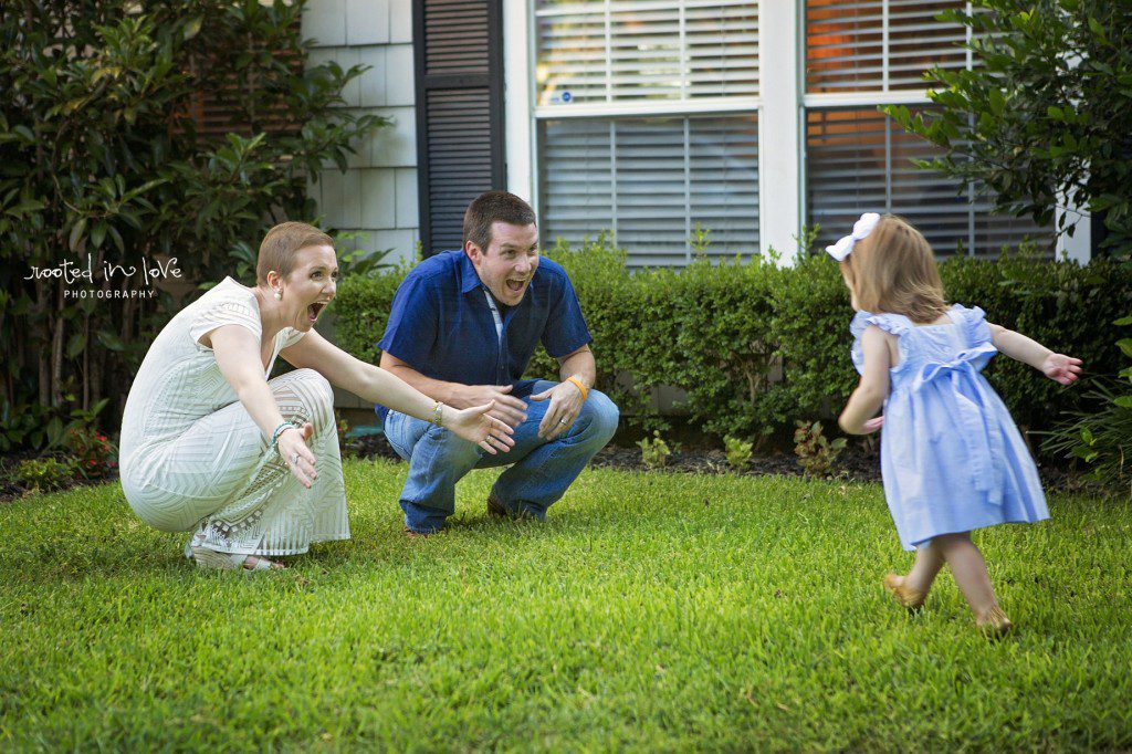
MULTIPOLYGON (((255 294, 231 277, 173 317, 146 353, 119 448, 130 507, 163 531, 195 529, 192 546, 221 552, 295 555, 311 542, 349 539, 329 383, 311 369, 267 383, 284 419, 315 426, 308 446, 318 479, 307 489, 268 447, 212 349, 198 342, 222 325, 261 336, 255 294)), ((286 327, 275 336, 266 374, 302 335, 286 327)))

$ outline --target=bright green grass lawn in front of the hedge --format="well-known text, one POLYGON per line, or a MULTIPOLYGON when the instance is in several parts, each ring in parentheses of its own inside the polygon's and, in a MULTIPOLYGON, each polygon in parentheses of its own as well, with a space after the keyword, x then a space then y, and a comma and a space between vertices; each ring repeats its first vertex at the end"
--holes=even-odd
POLYGON ((348 462, 353 540, 200 573, 117 485, 0 504, 0 749, 1132 746, 1132 508, 1054 496, 977 540, 1020 632, 946 573, 909 616, 881 488, 586 471, 544 524, 401 533, 405 466, 348 462))

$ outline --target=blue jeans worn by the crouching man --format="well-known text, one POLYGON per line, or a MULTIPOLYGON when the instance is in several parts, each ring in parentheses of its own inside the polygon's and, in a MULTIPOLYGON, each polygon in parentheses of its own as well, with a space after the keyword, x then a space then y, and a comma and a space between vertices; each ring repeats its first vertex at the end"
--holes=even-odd
MULTIPOLYGON (((554 385, 540 380, 532 394, 554 385)), ((526 421, 513 435, 515 447, 496 455, 423 419, 388 413, 385 436, 409 461, 409 479, 401 490, 401 508, 409 529, 420 533, 438 531, 456 508, 456 482, 464 474, 472 469, 506 465, 511 468, 496 480, 491 494, 512 514, 546 519, 550 504, 563 496, 617 429, 617 406, 594 389, 571 428, 552 440, 539 437, 539 422, 550 401, 526 404, 526 421)))

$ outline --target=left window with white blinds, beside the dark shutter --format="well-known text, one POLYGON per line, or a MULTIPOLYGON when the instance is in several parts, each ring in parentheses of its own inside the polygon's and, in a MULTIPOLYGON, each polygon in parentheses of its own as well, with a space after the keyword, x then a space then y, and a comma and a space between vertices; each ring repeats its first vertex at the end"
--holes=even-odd
POLYGON ((757 2, 534 9, 543 243, 610 230, 629 264, 758 249, 757 2))

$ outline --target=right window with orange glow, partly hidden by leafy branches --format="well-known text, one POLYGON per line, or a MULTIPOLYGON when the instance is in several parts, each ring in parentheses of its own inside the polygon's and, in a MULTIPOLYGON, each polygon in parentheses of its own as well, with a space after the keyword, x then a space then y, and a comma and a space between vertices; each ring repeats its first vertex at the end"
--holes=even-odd
POLYGON ((867 0, 806 2, 806 222, 821 225, 816 248, 852 226, 861 212, 893 212, 924 232, 940 255, 994 255, 1026 237, 1052 255, 1049 229, 990 213, 972 186, 916 168, 937 154, 877 104, 926 108, 923 71, 974 65, 959 46, 967 28, 936 20, 962 2, 867 0))

